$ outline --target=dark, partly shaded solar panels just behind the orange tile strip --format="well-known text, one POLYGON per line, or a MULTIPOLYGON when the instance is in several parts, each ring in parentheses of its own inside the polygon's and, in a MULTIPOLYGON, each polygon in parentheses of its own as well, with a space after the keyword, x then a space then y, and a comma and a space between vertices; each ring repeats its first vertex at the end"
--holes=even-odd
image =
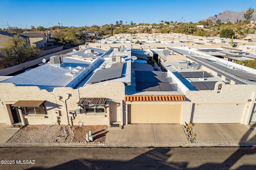
POLYGON ((172 91, 160 71, 135 71, 136 91, 172 91))

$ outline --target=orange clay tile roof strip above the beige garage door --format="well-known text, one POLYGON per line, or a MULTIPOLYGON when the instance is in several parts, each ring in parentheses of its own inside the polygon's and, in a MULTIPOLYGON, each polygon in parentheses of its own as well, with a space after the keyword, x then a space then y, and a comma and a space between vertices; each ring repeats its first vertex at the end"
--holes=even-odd
POLYGON ((186 101, 184 95, 125 95, 124 101, 127 102, 153 102, 153 101, 186 101))

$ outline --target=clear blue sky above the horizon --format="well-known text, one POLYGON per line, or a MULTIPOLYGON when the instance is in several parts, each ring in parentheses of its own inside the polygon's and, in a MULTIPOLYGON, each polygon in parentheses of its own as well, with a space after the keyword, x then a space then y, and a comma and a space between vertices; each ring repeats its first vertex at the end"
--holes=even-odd
POLYGON ((256 9, 256 0, 0 0, 0 28, 91 26, 116 21, 198 22, 224 10, 256 9), (182 19, 183 18, 183 19, 182 19))

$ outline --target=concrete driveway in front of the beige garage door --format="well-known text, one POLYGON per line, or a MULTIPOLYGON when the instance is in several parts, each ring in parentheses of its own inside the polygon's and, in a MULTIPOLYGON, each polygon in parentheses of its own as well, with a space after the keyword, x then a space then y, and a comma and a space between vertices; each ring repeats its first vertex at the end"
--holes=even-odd
POLYGON ((122 130, 108 129, 106 143, 189 143, 182 125, 128 124, 122 130))

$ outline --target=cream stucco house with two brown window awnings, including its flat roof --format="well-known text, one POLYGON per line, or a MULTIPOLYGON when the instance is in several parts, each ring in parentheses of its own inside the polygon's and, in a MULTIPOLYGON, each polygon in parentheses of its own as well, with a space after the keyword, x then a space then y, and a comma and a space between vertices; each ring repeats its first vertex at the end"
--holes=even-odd
POLYGON ((115 53, 95 61, 54 56, 51 63, 8 77, 0 83, 0 122, 123 125, 123 82, 130 84, 131 63, 120 57, 126 54, 130 59, 129 53, 123 51, 119 57, 117 49, 115 53))

